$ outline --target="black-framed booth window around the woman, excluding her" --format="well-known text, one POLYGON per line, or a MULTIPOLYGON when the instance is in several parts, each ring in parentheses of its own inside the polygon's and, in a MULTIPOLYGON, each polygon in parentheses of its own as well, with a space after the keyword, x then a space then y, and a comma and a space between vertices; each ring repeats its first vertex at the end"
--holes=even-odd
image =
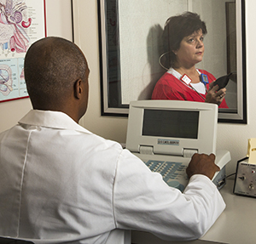
POLYGON ((244 0, 98 0, 102 115, 127 116, 132 100, 151 99, 166 72, 160 65, 166 20, 186 11, 207 24, 197 68, 214 77, 233 72, 218 122, 247 123, 244 0), (211 9, 211 10, 209 10, 211 9))

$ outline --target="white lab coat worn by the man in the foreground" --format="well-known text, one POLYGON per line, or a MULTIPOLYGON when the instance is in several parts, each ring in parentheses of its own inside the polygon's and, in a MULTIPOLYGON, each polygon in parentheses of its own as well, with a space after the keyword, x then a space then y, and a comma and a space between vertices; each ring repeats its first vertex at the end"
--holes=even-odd
POLYGON ((224 207, 206 176, 193 176, 182 194, 130 151, 61 112, 30 111, 0 134, 2 236, 105 243, 118 229, 192 240, 224 207))

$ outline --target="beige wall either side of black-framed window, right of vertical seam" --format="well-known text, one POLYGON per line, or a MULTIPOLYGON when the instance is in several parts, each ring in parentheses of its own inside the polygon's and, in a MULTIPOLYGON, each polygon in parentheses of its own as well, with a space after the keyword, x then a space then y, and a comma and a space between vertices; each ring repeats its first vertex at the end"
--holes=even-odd
MULTIPOLYGON (((90 64, 90 102, 88 113, 81 124, 94 133, 105 138, 125 142, 127 119, 123 117, 101 116, 99 51, 97 33, 96 0, 74 0, 75 11, 75 42, 83 49, 90 64), (86 2, 86 3, 85 3, 86 2)), ((247 23, 247 113, 248 123, 218 124, 217 149, 230 150, 232 160, 227 166, 227 173, 236 171, 236 162, 247 153, 247 139, 256 137, 256 82, 254 81, 254 64, 256 64, 256 37, 254 13, 256 1, 246 0, 247 23), (249 22, 251 20, 251 22, 249 22)), ((209 128, 211 129, 211 128, 209 128)))

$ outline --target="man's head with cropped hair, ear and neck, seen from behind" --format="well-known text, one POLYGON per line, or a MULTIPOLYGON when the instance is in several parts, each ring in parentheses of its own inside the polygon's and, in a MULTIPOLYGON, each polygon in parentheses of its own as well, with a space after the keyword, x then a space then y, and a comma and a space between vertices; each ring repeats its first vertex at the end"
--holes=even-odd
POLYGON ((89 68, 84 54, 61 37, 46 37, 28 49, 26 88, 37 110, 63 111, 79 121, 87 109, 89 68))

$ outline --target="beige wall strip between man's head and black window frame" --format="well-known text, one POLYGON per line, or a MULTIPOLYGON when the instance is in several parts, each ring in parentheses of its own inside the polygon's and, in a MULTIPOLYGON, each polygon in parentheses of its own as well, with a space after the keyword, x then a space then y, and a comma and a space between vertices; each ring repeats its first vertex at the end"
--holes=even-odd
POLYGON ((88 111, 80 123, 107 139, 125 142, 127 119, 101 116, 97 1, 74 0, 75 43, 84 51, 90 67, 88 111))

